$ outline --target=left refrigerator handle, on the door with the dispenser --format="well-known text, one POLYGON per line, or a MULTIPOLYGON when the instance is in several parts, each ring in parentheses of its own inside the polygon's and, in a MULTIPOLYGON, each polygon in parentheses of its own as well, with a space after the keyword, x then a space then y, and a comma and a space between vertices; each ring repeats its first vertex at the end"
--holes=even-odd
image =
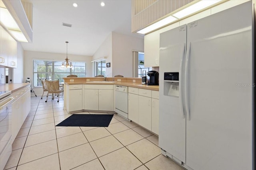
POLYGON ((179 78, 179 83, 180 83, 180 106, 181 106, 181 117, 185 118, 185 112, 184 112, 184 103, 183 103, 183 84, 182 84, 182 77, 183 77, 183 58, 184 58, 184 53, 185 53, 185 43, 182 45, 182 51, 181 51, 181 56, 180 56, 180 78, 179 78))

